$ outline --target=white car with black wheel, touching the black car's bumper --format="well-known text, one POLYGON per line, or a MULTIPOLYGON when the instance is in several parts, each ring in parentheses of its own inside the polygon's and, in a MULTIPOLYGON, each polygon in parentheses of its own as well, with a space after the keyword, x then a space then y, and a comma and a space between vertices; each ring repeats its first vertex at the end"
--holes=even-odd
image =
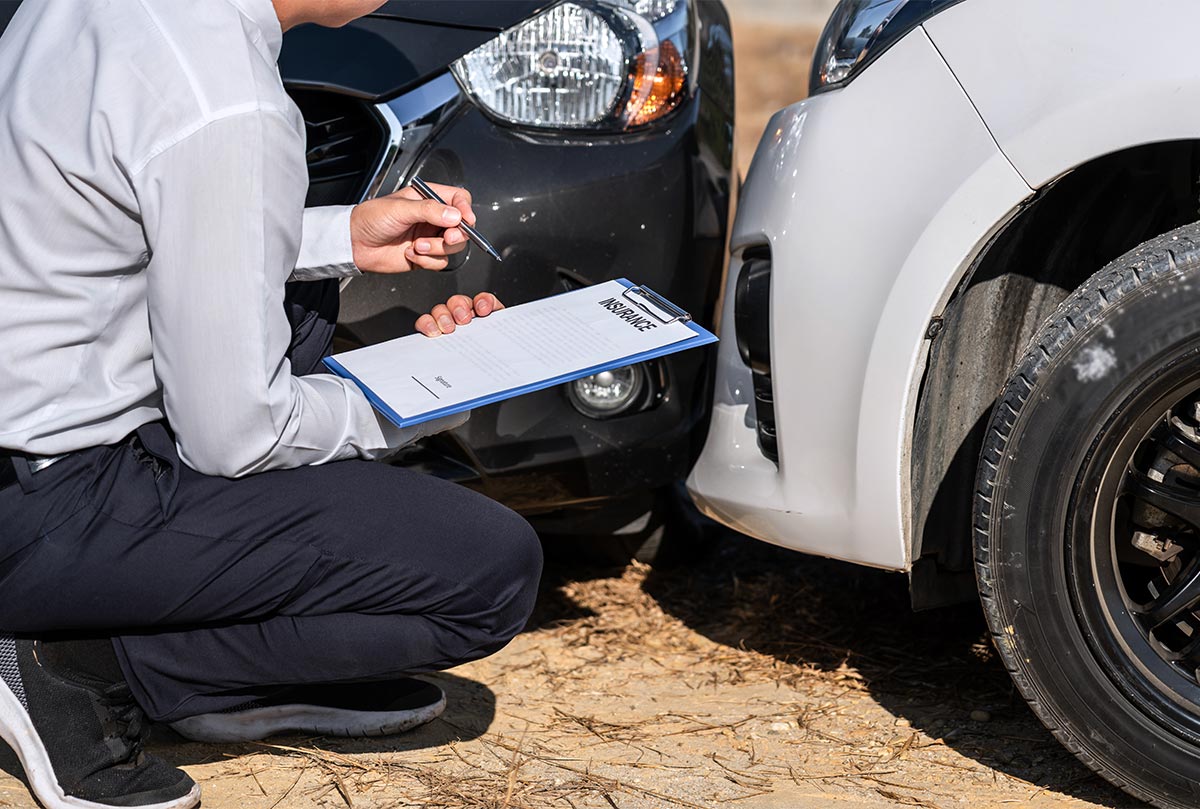
POLYGON ((1200 4, 844 0, 763 133, 688 485, 978 589, 1085 763, 1200 805, 1200 4))

